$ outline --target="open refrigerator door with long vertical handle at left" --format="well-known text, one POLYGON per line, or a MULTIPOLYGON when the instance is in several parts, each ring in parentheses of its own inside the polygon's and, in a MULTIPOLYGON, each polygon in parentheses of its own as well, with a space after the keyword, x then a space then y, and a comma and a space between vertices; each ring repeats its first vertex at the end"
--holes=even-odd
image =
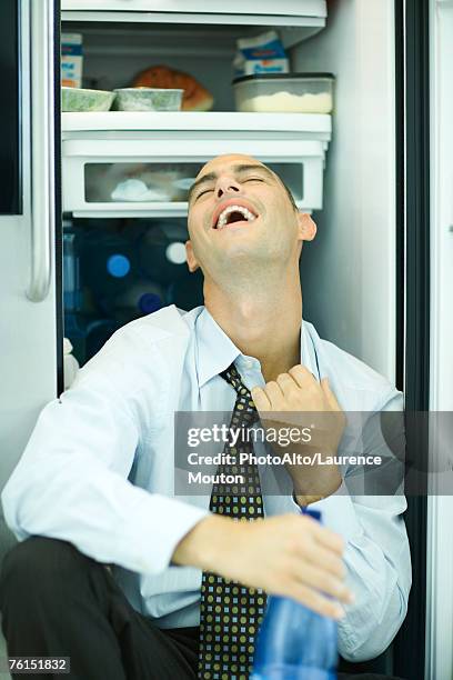
MULTIPOLYGON (((53 0, 2 0, 0 9, 2 82, 13 69, 16 83, 3 91, 14 117, 0 138, 16 172, 0 214, 0 489, 58 389, 54 9, 53 0)), ((0 559, 11 541, 0 514, 0 559)))

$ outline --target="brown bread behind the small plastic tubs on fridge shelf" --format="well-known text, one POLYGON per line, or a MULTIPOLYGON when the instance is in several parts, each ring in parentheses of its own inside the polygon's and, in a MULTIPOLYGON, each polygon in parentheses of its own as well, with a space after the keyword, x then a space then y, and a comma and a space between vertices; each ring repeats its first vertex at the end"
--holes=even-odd
POLYGON ((214 98, 189 73, 165 66, 155 66, 141 71, 132 83, 134 88, 169 88, 184 90, 183 111, 209 111, 214 98))

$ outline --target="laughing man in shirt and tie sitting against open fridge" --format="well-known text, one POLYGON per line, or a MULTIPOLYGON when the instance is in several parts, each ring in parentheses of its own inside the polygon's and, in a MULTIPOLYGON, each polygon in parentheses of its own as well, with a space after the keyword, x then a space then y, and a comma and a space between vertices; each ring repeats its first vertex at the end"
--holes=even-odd
POLYGON ((43 409, 3 491, 22 541, 1 579, 9 653, 71 657, 80 679, 246 678, 268 592, 342 617, 342 656, 372 658, 406 611, 404 498, 352 498, 330 464, 314 492, 290 469, 293 489, 261 494, 252 470, 250 498, 182 502, 173 414, 338 416, 401 409, 401 394, 302 322, 299 259, 315 226, 263 163, 210 161, 189 233, 204 308, 118 331, 43 409), (245 521, 225 517, 233 502, 245 521), (325 527, 301 516, 306 506, 325 527))

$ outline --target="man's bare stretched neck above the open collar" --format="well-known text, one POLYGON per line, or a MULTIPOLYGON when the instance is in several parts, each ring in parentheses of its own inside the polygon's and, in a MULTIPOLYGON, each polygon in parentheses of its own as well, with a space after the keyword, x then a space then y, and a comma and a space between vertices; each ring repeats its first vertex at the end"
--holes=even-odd
POLYGON ((260 282, 253 290, 246 286, 229 290, 204 284, 204 304, 217 323, 243 354, 261 363, 264 380, 275 380, 280 373, 300 363, 302 291, 296 272, 279 280, 260 282))

